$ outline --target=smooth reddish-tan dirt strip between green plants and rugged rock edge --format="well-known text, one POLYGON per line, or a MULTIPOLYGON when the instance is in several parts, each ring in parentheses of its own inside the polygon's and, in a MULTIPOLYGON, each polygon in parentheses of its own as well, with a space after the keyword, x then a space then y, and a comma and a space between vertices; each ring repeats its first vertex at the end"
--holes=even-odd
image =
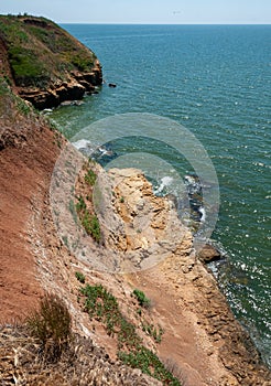
MULTIPOLYGON (((217 347, 199 325, 196 313, 187 305, 194 301, 192 297, 196 288, 192 288, 188 280, 187 283, 182 282, 182 265, 173 260, 171 267, 175 264, 173 269, 177 280, 169 278, 164 264, 129 277, 133 287, 142 289, 151 299, 152 312, 164 328, 159 355, 181 375, 184 385, 239 385, 224 367, 217 347)), ((193 261, 186 261, 187 266, 191 264, 193 261)))

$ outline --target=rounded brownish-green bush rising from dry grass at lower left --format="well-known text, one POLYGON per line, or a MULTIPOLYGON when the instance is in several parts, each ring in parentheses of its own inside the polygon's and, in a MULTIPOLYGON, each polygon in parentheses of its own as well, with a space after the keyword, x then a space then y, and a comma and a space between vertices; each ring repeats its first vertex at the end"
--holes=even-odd
POLYGON ((59 360, 72 336, 72 318, 64 301, 56 294, 45 294, 26 325, 41 344, 44 357, 50 362, 59 360))

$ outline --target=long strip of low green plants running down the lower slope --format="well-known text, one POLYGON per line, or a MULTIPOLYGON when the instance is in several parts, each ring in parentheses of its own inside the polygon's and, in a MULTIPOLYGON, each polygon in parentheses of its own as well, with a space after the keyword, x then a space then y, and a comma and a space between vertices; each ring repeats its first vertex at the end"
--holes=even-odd
MULTIPOLYGON (((118 358, 132 368, 161 380, 164 385, 181 386, 160 361, 158 355, 143 345, 137 328, 128 321, 119 309, 117 299, 101 285, 86 285, 80 288, 78 301, 90 319, 102 323, 110 336, 117 336, 118 358)), ((153 333, 152 329, 152 333, 153 333)), ((162 336, 162 334, 161 334, 162 336)))

